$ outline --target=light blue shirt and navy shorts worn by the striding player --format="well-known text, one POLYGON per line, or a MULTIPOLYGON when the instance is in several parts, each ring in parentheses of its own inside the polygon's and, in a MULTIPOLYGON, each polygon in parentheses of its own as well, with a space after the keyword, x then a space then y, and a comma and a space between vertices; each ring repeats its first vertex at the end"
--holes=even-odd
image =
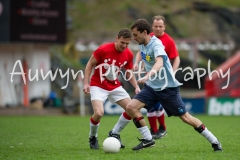
POLYGON ((171 63, 162 42, 153 36, 146 46, 140 45, 140 52, 147 72, 152 69, 156 63, 155 58, 158 56, 163 58, 163 66, 157 72, 156 77, 154 75, 150 77, 133 99, 144 103, 148 112, 153 111, 156 106, 160 107, 160 102, 168 116, 184 115, 187 110, 179 95, 178 87, 182 84, 173 75, 171 63))

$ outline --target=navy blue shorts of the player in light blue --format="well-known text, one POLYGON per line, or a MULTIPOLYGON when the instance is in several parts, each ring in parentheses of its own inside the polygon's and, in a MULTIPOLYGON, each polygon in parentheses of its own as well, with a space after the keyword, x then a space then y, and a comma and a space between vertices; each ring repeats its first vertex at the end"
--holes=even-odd
POLYGON ((182 116, 187 112, 185 104, 179 95, 179 87, 155 91, 144 84, 141 92, 136 94, 133 99, 137 99, 144 103, 144 108, 148 111, 151 110, 156 103, 160 102, 169 117, 182 116))

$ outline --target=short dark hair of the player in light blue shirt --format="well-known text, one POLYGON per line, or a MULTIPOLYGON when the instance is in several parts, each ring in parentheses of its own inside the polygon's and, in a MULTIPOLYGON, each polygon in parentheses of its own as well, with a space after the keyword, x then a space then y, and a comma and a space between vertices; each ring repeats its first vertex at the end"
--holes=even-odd
POLYGON ((133 23, 131 26, 131 29, 134 29, 137 27, 137 31, 142 33, 144 30, 147 31, 147 34, 150 34, 151 31, 151 25, 146 19, 138 19, 136 22, 133 23))

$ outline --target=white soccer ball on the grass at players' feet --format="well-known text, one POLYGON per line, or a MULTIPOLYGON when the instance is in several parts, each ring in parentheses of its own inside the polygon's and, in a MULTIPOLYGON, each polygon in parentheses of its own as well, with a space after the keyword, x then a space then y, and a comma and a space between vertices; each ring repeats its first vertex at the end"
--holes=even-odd
POLYGON ((105 153, 118 153, 120 148, 121 144, 119 140, 114 137, 108 137, 103 141, 103 150, 105 153))

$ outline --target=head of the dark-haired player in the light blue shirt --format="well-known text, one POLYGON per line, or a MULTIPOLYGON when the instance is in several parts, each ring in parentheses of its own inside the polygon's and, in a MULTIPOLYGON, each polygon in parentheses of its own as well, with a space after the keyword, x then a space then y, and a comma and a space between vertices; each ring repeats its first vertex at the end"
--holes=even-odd
POLYGON ((146 42, 147 36, 150 34, 151 25, 145 19, 138 19, 131 26, 131 31, 133 33, 134 39, 139 44, 144 44, 146 42))

